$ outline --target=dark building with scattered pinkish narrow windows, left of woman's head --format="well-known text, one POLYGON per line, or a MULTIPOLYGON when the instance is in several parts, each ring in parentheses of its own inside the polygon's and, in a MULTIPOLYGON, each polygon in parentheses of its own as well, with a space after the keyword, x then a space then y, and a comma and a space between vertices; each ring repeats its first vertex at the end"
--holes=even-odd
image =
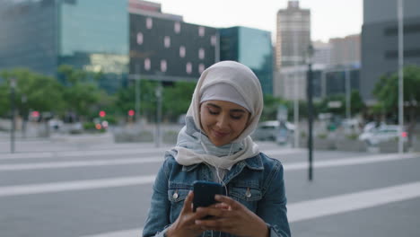
POLYGON ((130 75, 162 81, 197 81, 216 62, 215 28, 130 13, 130 75))

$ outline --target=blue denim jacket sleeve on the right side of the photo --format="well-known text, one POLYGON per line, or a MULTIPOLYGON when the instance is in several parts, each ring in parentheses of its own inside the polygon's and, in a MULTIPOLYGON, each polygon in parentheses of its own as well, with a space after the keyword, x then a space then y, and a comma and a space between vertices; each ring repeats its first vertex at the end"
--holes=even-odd
POLYGON ((270 237, 291 236, 287 220, 283 171, 281 162, 275 161, 263 186, 263 198, 258 203, 257 215, 267 223, 270 237))

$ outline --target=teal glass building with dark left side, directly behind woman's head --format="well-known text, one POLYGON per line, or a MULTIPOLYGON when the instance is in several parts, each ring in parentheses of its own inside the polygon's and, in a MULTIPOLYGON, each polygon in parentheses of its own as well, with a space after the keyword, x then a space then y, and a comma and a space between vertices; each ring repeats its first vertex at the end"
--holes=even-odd
POLYGON ((247 27, 219 30, 220 59, 240 62, 258 76, 264 93, 273 94, 271 33, 247 27))

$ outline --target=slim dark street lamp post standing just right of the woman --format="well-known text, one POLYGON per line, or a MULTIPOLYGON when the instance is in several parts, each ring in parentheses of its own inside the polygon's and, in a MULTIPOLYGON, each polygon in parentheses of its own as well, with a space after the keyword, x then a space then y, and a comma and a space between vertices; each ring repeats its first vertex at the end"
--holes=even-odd
POLYGON ((313 102, 312 102, 312 93, 313 93, 313 80, 312 80, 312 56, 313 56, 313 47, 312 44, 308 46, 307 57, 308 57, 308 155, 309 155, 309 171, 308 179, 312 180, 312 152, 313 152, 313 140, 312 140, 312 122, 313 122, 313 102))

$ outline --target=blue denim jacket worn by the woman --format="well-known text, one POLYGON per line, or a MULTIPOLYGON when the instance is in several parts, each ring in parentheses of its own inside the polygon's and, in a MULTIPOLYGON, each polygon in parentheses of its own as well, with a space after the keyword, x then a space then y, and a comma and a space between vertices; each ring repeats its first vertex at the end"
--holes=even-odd
MULTIPOLYGON (((263 219, 270 236, 291 236, 286 215, 283 166, 281 162, 258 154, 233 165, 223 178, 228 196, 263 219)), ((143 236, 163 237, 176 221, 188 191, 195 180, 213 180, 205 163, 180 165, 171 155, 165 157, 153 185, 152 204, 144 224, 143 236)), ((201 236, 234 236, 206 231, 201 236)))

